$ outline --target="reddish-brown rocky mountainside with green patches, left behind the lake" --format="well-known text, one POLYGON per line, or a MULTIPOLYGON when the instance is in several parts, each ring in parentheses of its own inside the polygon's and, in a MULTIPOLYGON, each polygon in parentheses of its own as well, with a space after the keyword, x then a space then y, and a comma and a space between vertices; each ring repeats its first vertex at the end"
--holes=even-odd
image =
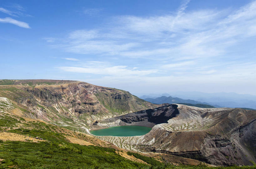
POLYGON ((86 82, 0 80, 0 84, 0 97, 15 102, 24 117, 58 125, 84 126, 94 120, 156 107, 129 92, 86 82))

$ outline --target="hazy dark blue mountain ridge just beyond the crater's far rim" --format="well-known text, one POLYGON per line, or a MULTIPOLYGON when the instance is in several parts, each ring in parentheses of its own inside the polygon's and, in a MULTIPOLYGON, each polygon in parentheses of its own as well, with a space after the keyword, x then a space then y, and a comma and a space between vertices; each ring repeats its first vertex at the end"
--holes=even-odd
MULTIPOLYGON (((200 102, 200 101, 195 101, 195 100, 190 100, 190 99, 184 100, 184 99, 181 99, 181 98, 178 98, 178 97, 172 97, 172 96, 169 96, 169 97, 161 96, 161 97, 158 97, 158 98, 145 98, 144 100, 149 101, 149 102, 154 103, 154 104, 190 103, 190 104, 211 105, 211 104, 206 103, 206 102, 200 102)), ((218 105, 211 105, 211 106, 220 107, 218 105)))

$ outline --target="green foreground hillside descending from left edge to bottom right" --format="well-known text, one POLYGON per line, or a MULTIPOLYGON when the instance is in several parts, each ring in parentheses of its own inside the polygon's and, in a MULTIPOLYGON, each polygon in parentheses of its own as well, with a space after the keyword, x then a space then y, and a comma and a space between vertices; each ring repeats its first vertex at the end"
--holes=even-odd
MULTIPOLYGON (((3 115, 3 113, 1 113, 3 115)), ((97 143, 97 140, 89 140, 88 136, 81 133, 73 133, 66 129, 51 124, 38 121, 14 120, 18 117, 9 118, 9 123, 0 125, 0 134, 19 134, 23 141, 11 141, 0 139, 0 168, 173 168, 173 169, 199 169, 207 167, 199 164, 197 166, 180 165, 174 166, 164 159, 156 160, 138 153, 128 152, 127 156, 139 159, 141 162, 134 162, 122 157, 122 150, 112 148, 111 145, 100 144, 100 146, 85 146, 70 143, 66 139, 67 135, 77 136, 81 139, 97 143), (22 128, 17 126, 23 125, 22 128), (12 127, 11 127, 12 126, 12 127), (27 126, 27 127, 25 127, 27 126), (26 136, 26 137, 25 137, 26 136), (41 137, 43 141, 37 142, 30 139, 41 137), (143 162, 143 163, 142 163, 143 162)), ((248 167, 214 167, 220 168, 254 168, 248 167)))

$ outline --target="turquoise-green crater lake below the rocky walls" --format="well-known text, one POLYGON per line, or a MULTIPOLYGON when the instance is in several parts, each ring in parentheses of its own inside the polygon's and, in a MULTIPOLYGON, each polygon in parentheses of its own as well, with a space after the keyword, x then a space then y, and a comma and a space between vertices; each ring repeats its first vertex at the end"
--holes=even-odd
POLYGON ((150 130, 150 127, 127 125, 91 130, 90 133, 97 136, 141 136, 147 134, 150 130))

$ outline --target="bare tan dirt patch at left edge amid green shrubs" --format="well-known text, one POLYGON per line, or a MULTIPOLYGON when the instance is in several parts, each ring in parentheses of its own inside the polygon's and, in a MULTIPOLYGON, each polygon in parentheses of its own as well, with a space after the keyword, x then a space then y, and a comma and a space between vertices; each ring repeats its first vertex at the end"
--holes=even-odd
POLYGON ((8 132, 0 132, 0 140, 3 141, 27 141, 31 140, 33 142, 39 142, 39 141, 44 141, 44 140, 39 140, 39 139, 34 139, 33 137, 25 137, 24 135, 21 134, 15 134, 15 133, 8 133, 8 132))

